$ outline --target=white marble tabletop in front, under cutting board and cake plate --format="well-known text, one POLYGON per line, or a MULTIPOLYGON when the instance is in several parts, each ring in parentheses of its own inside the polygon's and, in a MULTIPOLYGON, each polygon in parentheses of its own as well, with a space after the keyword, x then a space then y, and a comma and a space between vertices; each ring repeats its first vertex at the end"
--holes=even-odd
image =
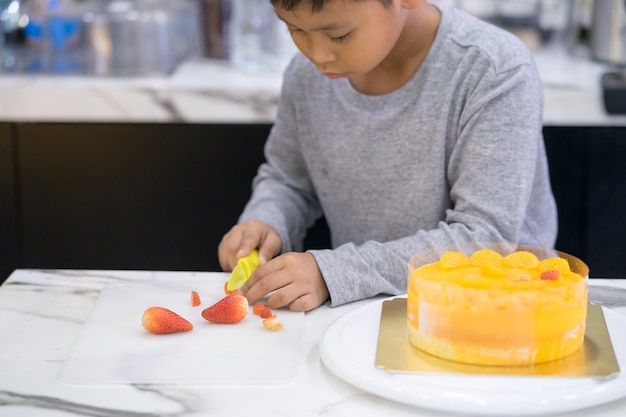
MULTIPOLYGON (((99 293, 124 281, 223 282, 223 273, 18 270, 0 287, 0 416, 426 416, 444 414, 368 394, 337 378, 319 343, 334 319, 375 300, 305 315, 302 358, 287 385, 68 385, 58 374, 99 293)), ((626 314, 626 281, 592 279, 590 300, 626 314)), ((137 320, 129 317, 129 320, 137 320)), ((139 321, 137 322, 139 326, 139 321)), ((103 346, 106 349, 106 346, 103 346)), ((146 352, 146 355, 150 353, 146 352)), ((155 358, 155 361, 157 358, 155 358)), ((623 364, 622 364, 623 365, 623 364)), ((626 387, 625 387, 626 389, 626 387)), ((513 412, 514 410, 512 410, 513 412)), ((618 417, 626 399, 568 416, 618 417)))

